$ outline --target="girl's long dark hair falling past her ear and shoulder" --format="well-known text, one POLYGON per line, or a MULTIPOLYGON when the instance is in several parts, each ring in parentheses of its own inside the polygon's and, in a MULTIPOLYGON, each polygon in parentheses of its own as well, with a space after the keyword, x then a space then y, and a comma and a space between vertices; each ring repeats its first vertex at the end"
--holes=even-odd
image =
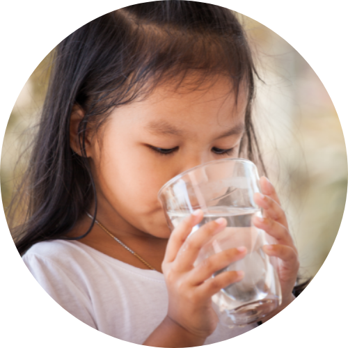
POLYGON ((93 222, 84 235, 66 237, 93 202, 94 216, 97 212, 84 149, 87 125, 97 129, 113 108, 145 97, 168 79, 179 86, 192 72, 196 85, 223 74, 237 93, 246 86, 246 132, 240 151, 263 167, 251 118, 258 75, 235 14, 193 1, 154 1, 116 10, 81 26, 54 51, 31 159, 10 205, 14 212, 24 204, 24 221, 13 229, 21 255, 35 243, 81 239, 90 232, 93 222), (75 105, 84 110, 81 156, 70 148, 75 105))

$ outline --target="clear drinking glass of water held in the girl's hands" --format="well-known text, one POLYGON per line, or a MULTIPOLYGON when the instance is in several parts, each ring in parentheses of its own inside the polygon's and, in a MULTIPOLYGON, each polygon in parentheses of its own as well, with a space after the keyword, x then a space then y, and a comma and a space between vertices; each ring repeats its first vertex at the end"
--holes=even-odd
POLYGON ((212 302, 221 324, 244 326, 258 322, 281 303, 281 290, 276 272, 276 258, 269 258, 265 244, 275 241, 253 226, 254 215, 262 216, 253 199, 260 192, 258 170, 246 159, 221 159, 196 166, 169 180, 159 191, 159 200, 169 228, 173 230, 186 216, 202 209, 203 224, 223 217, 225 230, 203 246, 196 264, 228 248, 245 246, 245 258, 233 262, 223 271, 244 271, 244 278, 214 294, 212 302))

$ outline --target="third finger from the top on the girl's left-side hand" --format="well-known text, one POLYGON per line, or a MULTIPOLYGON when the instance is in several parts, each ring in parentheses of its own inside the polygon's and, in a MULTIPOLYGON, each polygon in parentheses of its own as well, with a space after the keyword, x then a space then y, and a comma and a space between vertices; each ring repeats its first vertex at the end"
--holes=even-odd
POLYGON ((241 260, 246 255, 246 248, 231 248, 221 251, 203 260, 189 274, 189 283, 193 286, 200 285, 210 278, 216 271, 227 267, 232 262, 241 260))

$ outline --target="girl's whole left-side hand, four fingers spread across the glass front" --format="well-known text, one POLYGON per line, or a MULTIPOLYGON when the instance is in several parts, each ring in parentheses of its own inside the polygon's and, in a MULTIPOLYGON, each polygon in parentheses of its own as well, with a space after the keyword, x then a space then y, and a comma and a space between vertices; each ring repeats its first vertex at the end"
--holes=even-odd
MULTIPOLYGON (((223 287, 242 280, 242 272, 226 271, 210 278, 214 272, 244 258, 246 248, 221 251, 193 267, 200 248, 216 233, 226 228, 226 219, 210 221, 189 238, 193 226, 203 219, 197 210, 173 230, 168 240, 162 270, 168 288, 167 319, 197 338, 202 344, 218 322, 212 308, 212 295, 223 287)), ((198 342, 197 341, 197 342, 198 342)))

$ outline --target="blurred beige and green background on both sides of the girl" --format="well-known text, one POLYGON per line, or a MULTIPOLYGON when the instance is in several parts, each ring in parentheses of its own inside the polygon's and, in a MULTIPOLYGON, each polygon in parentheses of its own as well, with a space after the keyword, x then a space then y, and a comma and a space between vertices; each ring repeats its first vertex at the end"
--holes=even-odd
MULTIPOLYGON (((239 15, 258 72, 254 119, 269 178, 299 250, 301 277, 314 276, 335 240, 347 196, 347 152, 329 94, 308 63, 266 26, 239 15)), ((1 152, 3 206, 26 165, 49 77, 49 56, 22 89, 1 152), (17 166, 16 166, 17 164, 17 166)))

